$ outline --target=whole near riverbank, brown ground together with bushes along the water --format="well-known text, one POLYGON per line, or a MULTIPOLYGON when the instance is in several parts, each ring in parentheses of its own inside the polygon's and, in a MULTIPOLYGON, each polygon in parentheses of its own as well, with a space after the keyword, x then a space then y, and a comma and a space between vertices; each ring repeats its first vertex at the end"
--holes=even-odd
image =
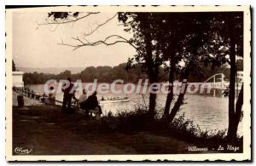
POLYGON ((56 106, 14 106, 13 146, 32 148, 34 155, 74 155, 176 154, 188 153, 189 146, 208 146, 208 152, 216 152, 215 146, 226 145, 222 133, 198 135, 190 125, 183 117, 172 126, 149 121, 143 110, 96 120, 78 112, 63 114, 56 106))

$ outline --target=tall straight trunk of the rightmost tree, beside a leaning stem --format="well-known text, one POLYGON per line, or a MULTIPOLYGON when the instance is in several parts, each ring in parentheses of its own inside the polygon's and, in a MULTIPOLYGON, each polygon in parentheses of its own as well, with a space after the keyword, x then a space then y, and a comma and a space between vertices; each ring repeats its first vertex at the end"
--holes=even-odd
POLYGON ((236 139, 235 128, 235 86, 236 86, 236 44, 230 36, 230 94, 229 94, 229 129, 228 139, 236 139))

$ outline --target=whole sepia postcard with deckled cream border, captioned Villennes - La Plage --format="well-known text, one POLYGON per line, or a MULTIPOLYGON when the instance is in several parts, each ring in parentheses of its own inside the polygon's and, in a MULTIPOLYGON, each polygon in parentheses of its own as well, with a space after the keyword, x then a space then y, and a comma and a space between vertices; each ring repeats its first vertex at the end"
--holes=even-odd
POLYGON ((250 161, 250 6, 6 7, 8 161, 250 161))

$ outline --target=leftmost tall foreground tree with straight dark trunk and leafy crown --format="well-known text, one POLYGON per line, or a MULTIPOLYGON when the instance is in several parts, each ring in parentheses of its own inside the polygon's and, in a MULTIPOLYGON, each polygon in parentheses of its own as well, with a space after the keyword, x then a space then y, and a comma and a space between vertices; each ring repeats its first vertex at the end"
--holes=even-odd
MULTIPOLYGON (((160 57, 160 45, 157 40, 159 26, 155 17, 156 13, 119 13, 119 20, 123 22, 125 31, 133 32, 130 40, 132 45, 137 48, 134 59, 128 60, 127 66, 131 66, 133 60, 141 64, 143 70, 148 75, 150 84, 158 83, 160 80, 159 72, 163 60, 160 57)), ((154 90, 158 90, 153 88, 154 90)), ((151 90, 153 90, 151 89, 151 90)), ((155 115, 156 93, 150 90, 148 113, 151 118, 155 115)))

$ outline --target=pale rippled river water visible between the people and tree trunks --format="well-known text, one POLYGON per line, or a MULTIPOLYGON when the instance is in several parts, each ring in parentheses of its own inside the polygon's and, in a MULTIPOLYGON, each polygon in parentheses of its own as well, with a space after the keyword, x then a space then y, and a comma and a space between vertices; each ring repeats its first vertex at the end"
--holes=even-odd
MULTIPOLYGON (((117 84, 116 89, 122 89, 123 84, 117 84)), ((31 85, 30 89, 33 89, 37 93, 44 92, 44 85, 31 85)), ((181 106, 177 115, 184 113, 185 118, 191 119, 201 129, 207 130, 223 130, 228 128, 228 108, 229 99, 222 95, 224 90, 211 90, 210 94, 206 92, 204 94, 186 94, 184 97, 184 104, 181 106)), ((62 100, 63 94, 57 94, 56 100, 62 100)), ((79 93, 75 94, 79 98, 79 93)), ((129 102, 120 103, 104 103, 101 104, 103 114, 112 112, 113 114, 119 111, 132 111, 138 104, 144 104, 143 101, 148 103, 148 95, 143 96, 142 94, 98 94, 98 99, 102 96, 104 99, 111 97, 128 97, 131 99, 129 102)), ((175 96, 177 99, 177 95, 175 96)), ((166 102, 166 94, 157 95, 157 108, 163 108, 166 102)), ((172 103, 173 106, 173 103, 172 103)), ((171 107, 172 107, 171 106, 171 107)), ((239 124, 238 134, 242 135, 242 123, 239 124)))

